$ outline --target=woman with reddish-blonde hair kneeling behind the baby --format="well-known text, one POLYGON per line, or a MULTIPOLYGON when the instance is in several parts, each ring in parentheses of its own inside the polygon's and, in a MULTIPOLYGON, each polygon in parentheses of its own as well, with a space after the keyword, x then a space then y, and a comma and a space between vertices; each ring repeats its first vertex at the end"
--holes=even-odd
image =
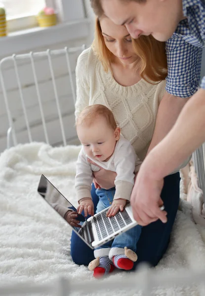
MULTIPOLYGON (((88 105, 107 106, 123 136, 144 160, 164 95, 166 74, 164 43, 145 36, 133 40, 123 26, 103 16, 96 20, 92 47, 78 59, 76 116, 88 105)), ((96 187, 109 189, 114 186, 116 173, 102 169, 94 177, 96 187)), ((179 181, 178 172, 164 178, 162 200, 168 222, 157 221, 142 228, 135 266, 142 261, 155 266, 164 255, 178 209, 179 181)), ((94 185, 91 194, 96 206, 94 185)), ((75 233, 71 238, 71 256, 74 262, 84 265, 94 259, 93 251, 75 233)))

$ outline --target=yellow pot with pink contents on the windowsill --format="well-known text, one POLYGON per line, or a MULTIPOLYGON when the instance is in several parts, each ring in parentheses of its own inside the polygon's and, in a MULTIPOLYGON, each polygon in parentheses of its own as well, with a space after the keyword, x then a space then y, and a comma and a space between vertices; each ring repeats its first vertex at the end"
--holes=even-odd
POLYGON ((53 8, 45 7, 37 15, 40 27, 51 27, 57 24, 57 15, 53 8))

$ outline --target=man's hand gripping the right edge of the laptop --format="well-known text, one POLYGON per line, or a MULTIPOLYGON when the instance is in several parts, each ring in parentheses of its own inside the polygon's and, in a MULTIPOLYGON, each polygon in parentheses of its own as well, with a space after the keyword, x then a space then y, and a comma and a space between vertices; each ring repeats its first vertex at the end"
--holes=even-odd
POLYGON ((145 226, 160 219, 167 222, 165 211, 161 211, 163 200, 160 197, 164 179, 155 180, 149 176, 146 163, 143 162, 137 174, 132 189, 130 203, 134 219, 138 224, 145 226))

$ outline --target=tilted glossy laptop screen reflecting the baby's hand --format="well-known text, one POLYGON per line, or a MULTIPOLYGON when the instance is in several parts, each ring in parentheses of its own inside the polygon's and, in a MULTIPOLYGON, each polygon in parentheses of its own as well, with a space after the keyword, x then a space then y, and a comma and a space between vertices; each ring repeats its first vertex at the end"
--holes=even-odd
MULTIPOLYGON (((89 246, 91 245, 84 239, 84 234, 81 225, 85 222, 82 215, 77 214, 76 208, 61 194, 50 181, 41 175, 38 186, 39 194, 44 200, 66 221, 73 230, 82 238, 82 240, 89 246), (75 216, 77 215, 77 217, 75 216)), ((91 247, 92 248, 92 247, 91 247)), ((92 248, 93 249, 93 248, 92 248)))

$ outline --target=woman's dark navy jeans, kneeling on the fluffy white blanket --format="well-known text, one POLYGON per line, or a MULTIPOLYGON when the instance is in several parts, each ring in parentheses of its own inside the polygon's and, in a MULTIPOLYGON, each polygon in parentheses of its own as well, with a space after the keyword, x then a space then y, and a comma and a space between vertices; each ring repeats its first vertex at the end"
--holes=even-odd
MULTIPOLYGON (((164 201, 164 207, 167 212, 167 222, 160 220, 142 227, 140 238, 137 242, 137 261, 134 262, 134 268, 140 262, 148 262, 156 266, 169 244, 170 233, 176 217, 179 205, 179 173, 169 175, 164 178, 164 187, 161 198, 164 201)), ((91 189, 94 211, 99 201, 95 193, 95 187, 91 189)), ((78 235, 73 232, 71 237, 71 256, 73 261, 79 265, 88 265, 94 258, 93 250, 90 249, 78 235)))

